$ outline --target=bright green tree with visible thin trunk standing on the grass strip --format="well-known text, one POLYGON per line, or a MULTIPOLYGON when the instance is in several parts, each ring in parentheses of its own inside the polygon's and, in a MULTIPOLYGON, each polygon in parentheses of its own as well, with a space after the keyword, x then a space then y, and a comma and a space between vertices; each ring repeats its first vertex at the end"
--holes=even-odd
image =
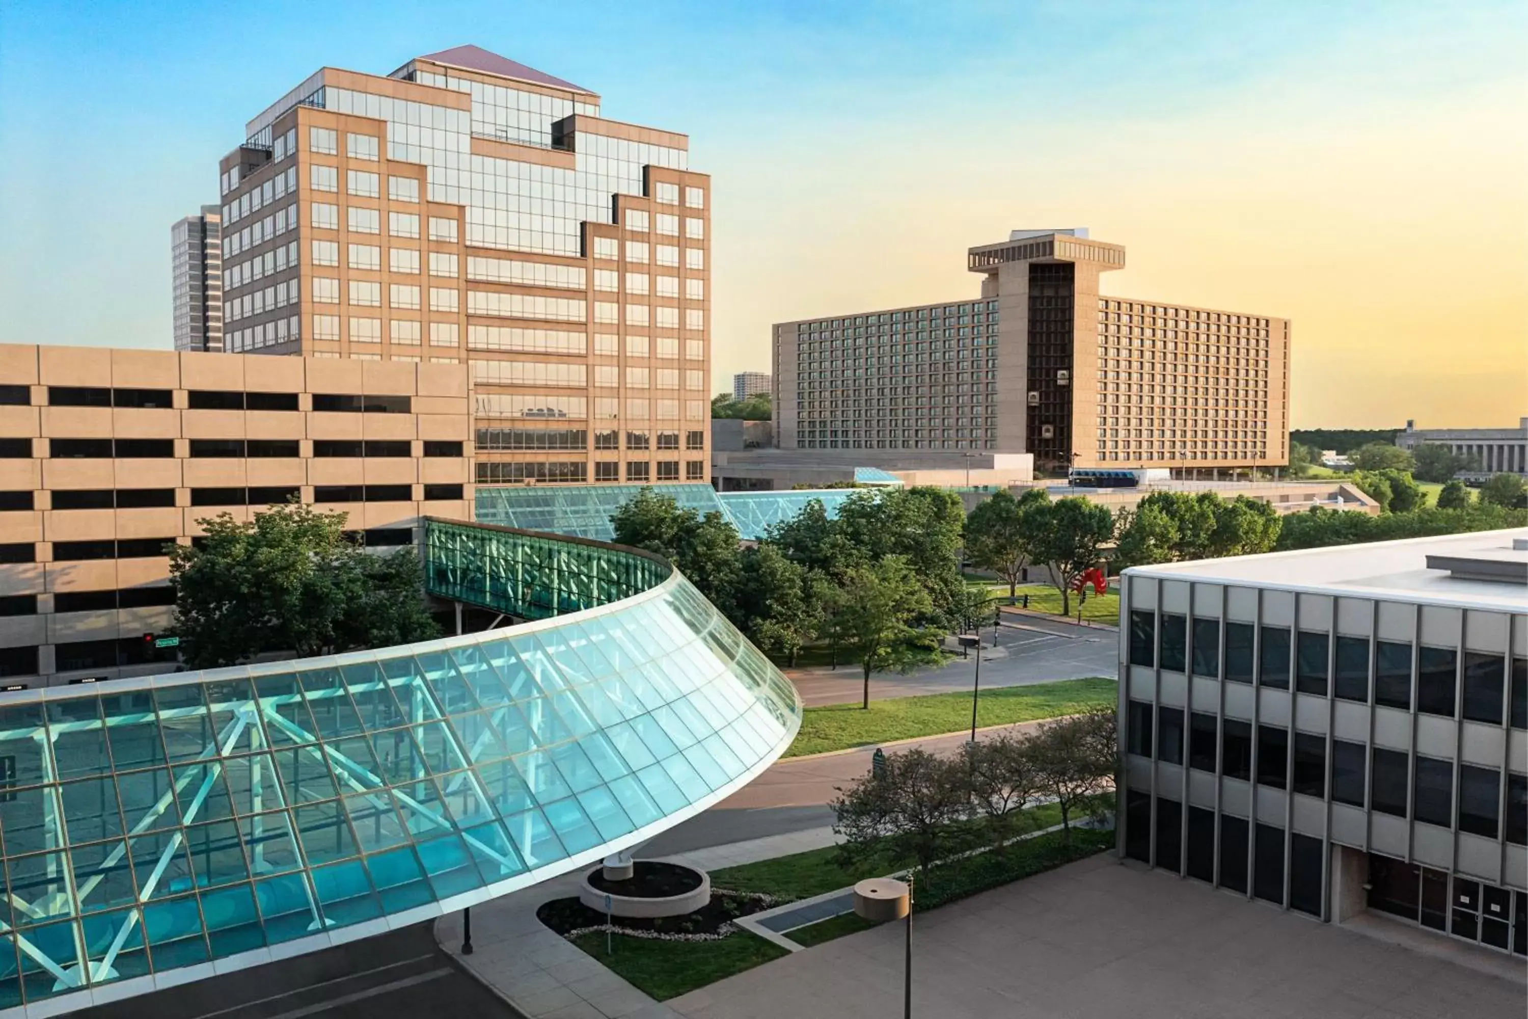
POLYGON ((862 707, 869 709, 872 672, 906 672, 941 658, 938 636, 912 625, 931 613, 932 602, 902 556, 854 567, 840 590, 842 602, 833 613, 834 628, 845 651, 863 669, 862 707))

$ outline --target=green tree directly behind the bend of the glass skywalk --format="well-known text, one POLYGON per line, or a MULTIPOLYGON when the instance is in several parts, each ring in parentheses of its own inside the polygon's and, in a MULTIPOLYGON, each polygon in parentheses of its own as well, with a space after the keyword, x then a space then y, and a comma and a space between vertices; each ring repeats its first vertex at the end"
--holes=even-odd
POLYGON ((733 616, 741 552, 738 529, 721 513, 680 507, 672 495, 649 487, 626 500, 610 518, 616 542, 654 552, 672 562, 695 588, 733 616))

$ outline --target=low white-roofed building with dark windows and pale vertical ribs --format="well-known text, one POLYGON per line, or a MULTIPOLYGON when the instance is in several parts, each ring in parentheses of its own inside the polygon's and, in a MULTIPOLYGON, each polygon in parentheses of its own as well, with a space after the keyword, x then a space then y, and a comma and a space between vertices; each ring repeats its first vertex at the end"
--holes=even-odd
POLYGON ((1126 570, 1125 856, 1528 955, 1528 530, 1126 570))

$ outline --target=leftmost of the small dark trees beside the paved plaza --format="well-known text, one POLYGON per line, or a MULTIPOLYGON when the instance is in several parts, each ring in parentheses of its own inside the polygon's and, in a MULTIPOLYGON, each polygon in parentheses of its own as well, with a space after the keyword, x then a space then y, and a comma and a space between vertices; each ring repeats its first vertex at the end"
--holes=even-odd
POLYGON ((843 836, 843 863, 912 857, 926 880, 929 866, 960 845, 955 825, 970 811, 970 787, 960 758, 927 750, 888 753, 886 765, 837 790, 834 834, 843 836))

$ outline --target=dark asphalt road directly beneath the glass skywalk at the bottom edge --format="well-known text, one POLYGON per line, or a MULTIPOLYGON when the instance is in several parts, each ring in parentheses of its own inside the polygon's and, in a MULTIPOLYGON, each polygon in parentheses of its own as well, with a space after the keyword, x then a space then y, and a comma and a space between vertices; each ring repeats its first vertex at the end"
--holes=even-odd
POLYGON ((79 1019, 523 1019, 455 967, 429 923, 72 1013, 79 1019))

